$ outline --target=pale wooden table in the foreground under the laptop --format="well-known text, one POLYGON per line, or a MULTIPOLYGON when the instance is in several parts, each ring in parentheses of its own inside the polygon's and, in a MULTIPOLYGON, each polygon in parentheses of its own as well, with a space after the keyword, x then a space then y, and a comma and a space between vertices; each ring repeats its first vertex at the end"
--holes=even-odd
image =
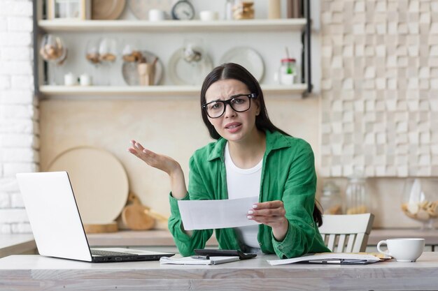
POLYGON ((159 262, 88 263, 38 255, 0 259, 1 290, 437 290, 438 253, 415 263, 364 266, 288 264, 255 259, 216 266, 159 262))

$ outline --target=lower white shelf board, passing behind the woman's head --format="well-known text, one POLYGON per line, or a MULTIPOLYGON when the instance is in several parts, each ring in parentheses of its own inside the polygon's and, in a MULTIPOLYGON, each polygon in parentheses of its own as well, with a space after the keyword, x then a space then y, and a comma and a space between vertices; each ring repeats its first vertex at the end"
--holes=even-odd
MULTIPOLYGON (((304 94, 307 84, 262 84, 264 94, 304 94)), ((199 86, 50 86, 44 85, 39 92, 44 97, 57 96, 198 96, 199 86)))

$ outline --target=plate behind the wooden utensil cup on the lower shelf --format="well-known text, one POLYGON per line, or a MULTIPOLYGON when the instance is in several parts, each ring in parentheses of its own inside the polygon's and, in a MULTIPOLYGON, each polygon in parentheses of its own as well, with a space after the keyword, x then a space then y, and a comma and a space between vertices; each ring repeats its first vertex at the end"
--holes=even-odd
MULTIPOLYGON (((157 57, 152 52, 148 52, 147 50, 141 50, 141 54, 146 58, 146 61, 150 62, 157 57)), ((134 61, 123 61, 122 64, 122 75, 123 80, 125 80, 126 84, 129 86, 139 86, 139 72, 137 71, 137 63, 134 61)), ((155 80, 154 85, 160 84, 163 77, 163 64, 158 59, 157 64, 155 65, 155 80)))

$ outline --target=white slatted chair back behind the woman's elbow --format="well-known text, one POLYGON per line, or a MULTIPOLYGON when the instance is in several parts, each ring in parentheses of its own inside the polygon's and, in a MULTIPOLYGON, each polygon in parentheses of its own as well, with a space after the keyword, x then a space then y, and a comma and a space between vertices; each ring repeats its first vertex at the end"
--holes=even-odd
POLYGON ((373 214, 324 215, 319 232, 334 253, 364 252, 373 221, 373 214))

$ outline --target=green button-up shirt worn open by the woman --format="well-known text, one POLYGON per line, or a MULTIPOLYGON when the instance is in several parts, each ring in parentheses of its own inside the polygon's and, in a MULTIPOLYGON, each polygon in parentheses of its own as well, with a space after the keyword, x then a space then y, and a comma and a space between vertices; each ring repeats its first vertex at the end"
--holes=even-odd
MULTIPOLYGON (((224 163, 226 142, 220 138, 195 151, 190 158, 188 195, 183 200, 228 199, 224 163)), ((294 258, 329 251, 313 221, 315 191, 316 172, 310 145, 296 137, 266 131, 259 201, 283 201, 289 229, 283 241, 277 241, 272 228, 260 224, 257 240, 263 253, 294 258)), ((181 255, 193 255, 195 248, 204 248, 213 230, 193 230, 191 236, 186 234, 181 226, 178 200, 171 195, 169 199, 169 230, 181 255)), ((216 239, 222 249, 241 249, 233 228, 216 230, 216 239)))

